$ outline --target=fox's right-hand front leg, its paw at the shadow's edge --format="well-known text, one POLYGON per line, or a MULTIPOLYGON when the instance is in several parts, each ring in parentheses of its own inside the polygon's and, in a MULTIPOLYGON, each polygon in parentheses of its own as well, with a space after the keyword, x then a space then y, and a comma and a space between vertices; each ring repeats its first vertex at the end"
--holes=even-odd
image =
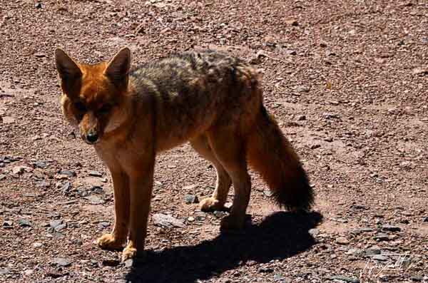
POLYGON ((122 260, 136 257, 137 252, 143 252, 147 235, 148 213, 153 189, 154 160, 143 164, 141 170, 130 173, 130 219, 129 241, 123 249, 122 260))

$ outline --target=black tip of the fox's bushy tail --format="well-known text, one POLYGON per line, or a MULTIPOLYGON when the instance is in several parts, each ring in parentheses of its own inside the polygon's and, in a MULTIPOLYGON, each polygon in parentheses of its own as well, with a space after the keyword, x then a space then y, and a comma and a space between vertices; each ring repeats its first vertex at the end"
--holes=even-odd
POLYGON ((310 211, 315 200, 315 192, 303 168, 298 174, 285 182, 284 187, 274 190, 273 197, 280 207, 292 212, 310 211))

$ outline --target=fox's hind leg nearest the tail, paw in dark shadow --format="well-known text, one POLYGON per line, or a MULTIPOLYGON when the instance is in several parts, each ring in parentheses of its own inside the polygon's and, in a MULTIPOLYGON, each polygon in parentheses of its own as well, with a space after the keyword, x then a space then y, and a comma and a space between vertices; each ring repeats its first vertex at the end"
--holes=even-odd
POLYGON ((222 230, 240 229, 245 224, 245 211, 250 201, 251 180, 245 159, 245 140, 233 126, 216 127, 208 133, 215 157, 230 176, 235 189, 230 215, 221 221, 222 230))

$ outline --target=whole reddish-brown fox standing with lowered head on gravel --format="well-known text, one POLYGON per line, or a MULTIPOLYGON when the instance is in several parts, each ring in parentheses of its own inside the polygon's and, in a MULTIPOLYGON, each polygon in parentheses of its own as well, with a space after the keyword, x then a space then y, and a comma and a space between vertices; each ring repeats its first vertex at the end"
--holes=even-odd
POLYGON ((248 169, 260 173, 280 207, 310 210, 315 193, 300 158, 263 105, 260 71, 215 50, 184 51, 131 68, 131 50, 110 61, 81 63, 55 50, 65 119, 95 148, 113 180, 113 230, 95 241, 144 251, 156 156, 183 143, 216 170, 213 195, 200 210, 225 210, 220 232, 242 230, 250 201, 248 169))

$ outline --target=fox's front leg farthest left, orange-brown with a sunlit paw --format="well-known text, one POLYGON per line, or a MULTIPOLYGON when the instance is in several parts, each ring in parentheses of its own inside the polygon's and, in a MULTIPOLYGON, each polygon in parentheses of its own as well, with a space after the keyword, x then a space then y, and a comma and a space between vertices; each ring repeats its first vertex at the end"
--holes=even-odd
POLYGON ((103 249, 121 249, 126 244, 129 226, 129 177, 123 170, 111 170, 113 178, 114 226, 113 231, 98 238, 103 249))

